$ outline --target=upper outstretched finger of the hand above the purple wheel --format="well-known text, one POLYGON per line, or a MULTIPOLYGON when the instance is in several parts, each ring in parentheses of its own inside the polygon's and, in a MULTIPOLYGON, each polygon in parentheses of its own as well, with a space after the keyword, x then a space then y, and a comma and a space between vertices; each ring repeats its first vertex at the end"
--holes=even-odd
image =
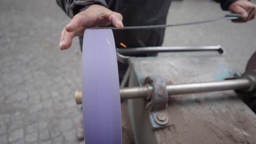
POLYGON ((67 24, 66 31, 74 32, 78 27, 86 25, 86 16, 85 14, 77 14, 73 19, 67 24))

